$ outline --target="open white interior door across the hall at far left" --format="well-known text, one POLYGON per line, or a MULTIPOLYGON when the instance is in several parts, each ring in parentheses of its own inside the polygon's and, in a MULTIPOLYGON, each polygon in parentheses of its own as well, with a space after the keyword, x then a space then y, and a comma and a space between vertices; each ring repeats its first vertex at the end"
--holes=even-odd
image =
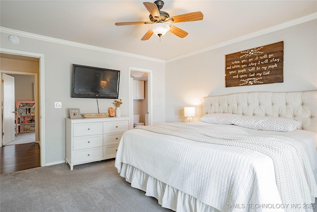
POLYGON ((2 145, 15 140, 15 112, 14 112, 14 77, 2 73, 3 80, 3 123, 2 123, 2 145))

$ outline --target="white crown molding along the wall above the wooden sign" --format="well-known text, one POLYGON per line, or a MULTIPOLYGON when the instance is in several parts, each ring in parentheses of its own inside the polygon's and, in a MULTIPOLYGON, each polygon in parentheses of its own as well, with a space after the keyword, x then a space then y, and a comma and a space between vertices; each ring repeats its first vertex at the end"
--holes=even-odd
POLYGON ((218 48, 221 48, 221 47, 224 47, 224 46, 228 46, 228 45, 231 45, 231 44, 234 44, 234 43, 238 43, 240 41, 244 41, 244 40, 248 40, 248 39, 251 39, 251 38, 255 38, 255 37, 258 37, 258 36, 261 36, 261 35, 264 35, 264 34, 268 34, 268 33, 271 33, 271 32, 275 32, 275 31, 278 31, 278 30, 281 30, 281 29, 285 29, 285 28, 288 28, 288 27, 291 27, 291 26, 295 26, 297 24, 301 24, 301 23, 304 23, 304 22, 307 22, 307 21, 311 21, 311 20, 314 20, 314 19, 317 19, 317 12, 312 13, 310 15, 306 15, 306 16, 297 18, 297 19, 294 19, 294 20, 291 20, 291 21, 288 21, 288 22, 284 22, 284 23, 281 23, 281 24, 278 24, 278 25, 275 25, 275 26, 272 26, 272 27, 269 27, 269 28, 266 28, 266 29, 263 29, 263 30, 259 30, 259 31, 256 31, 256 32, 253 32, 253 33, 250 33, 250 34, 247 34, 247 35, 244 35, 244 36, 241 36, 241 37, 238 37, 238 38, 226 41, 226 42, 223 42, 223 43, 219 43, 219 44, 216 44, 216 45, 204 48, 204 49, 200 49, 200 50, 195 51, 195 52, 191 52, 191 53, 188 53, 188 54, 185 54, 185 55, 181 55, 181 56, 178 56, 178 57, 175 57, 175 58, 168 59, 168 60, 165 61, 165 63, 170 63, 170 62, 177 61, 177 60, 180 60, 180 59, 183 59, 183 58, 187 58, 187 57, 190 57, 190 56, 198 55, 198 54, 201 54, 201 53, 204 53, 204 52, 208 52, 208 51, 211 51, 211 50, 214 50, 214 49, 218 49, 218 48))

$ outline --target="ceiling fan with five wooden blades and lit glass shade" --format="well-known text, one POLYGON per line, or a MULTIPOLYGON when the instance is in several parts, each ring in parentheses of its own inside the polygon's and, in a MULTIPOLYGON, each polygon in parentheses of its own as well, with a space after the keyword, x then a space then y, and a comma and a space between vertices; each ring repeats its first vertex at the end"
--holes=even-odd
POLYGON ((198 21, 203 20, 204 15, 202 12, 191 12, 182 15, 176 15, 169 17, 169 14, 160 9, 163 7, 164 2, 162 0, 156 0, 154 3, 143 2, 144 6, 150 12, 150 21, 138 21, 138 22, 118 22, 117 26, 134 25, 134 24, 152 24, 151 29, 143 36, 141 40, 148 40, 153 34, 159 36, 164 35, 167 31, 170 31, 174 35, 180 38, 184 38, 188 35, 188 32, 171 25, 171 23, 198 21))

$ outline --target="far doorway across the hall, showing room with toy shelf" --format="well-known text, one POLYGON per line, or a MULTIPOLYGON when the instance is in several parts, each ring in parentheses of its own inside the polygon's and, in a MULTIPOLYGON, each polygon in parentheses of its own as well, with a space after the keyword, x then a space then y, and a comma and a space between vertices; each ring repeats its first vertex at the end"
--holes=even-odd
MULTIPOLYGON (((38 107, 37 104, 35 104, 37 103, 37 101, 35 101, 37 73, 23 72, 23 74, 19 74, 19 72, 17 72, 17 74, 12 74, 4 72, 2 72, 2 104, 4 108, 2 117, 2 145, 39 143, 38 128, 36 126, 38 124, 38 117, 35 113, 35 109, 38 107), (6 85, 9 82, 4 78, 8 76, 13 78, 13 85, 11 85, 13 89, 11 90, 7 88, 10 84, 6 85), (12 93, 14 95, 12 95, 12 93), (9 101, 6 101, 6 99, 8 98, 13 102, 13 107, 7 106, 9 101), (12 122, 12 120, 5 116, 5 111, 14 111, 13 126, 8 124, 8 122, 12 122), (8 136, 11 134, 13 134, 13 136, 8 136)), ((13 112, 9 115, 12 113, 13 112)))

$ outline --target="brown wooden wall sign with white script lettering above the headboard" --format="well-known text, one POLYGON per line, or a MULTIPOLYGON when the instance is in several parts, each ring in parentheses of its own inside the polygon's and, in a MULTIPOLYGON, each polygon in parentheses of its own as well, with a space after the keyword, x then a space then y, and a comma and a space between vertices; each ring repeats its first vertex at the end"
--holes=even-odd
POLYGON ((283 82, 283 41, 226 55, 226 87, 283 82))

